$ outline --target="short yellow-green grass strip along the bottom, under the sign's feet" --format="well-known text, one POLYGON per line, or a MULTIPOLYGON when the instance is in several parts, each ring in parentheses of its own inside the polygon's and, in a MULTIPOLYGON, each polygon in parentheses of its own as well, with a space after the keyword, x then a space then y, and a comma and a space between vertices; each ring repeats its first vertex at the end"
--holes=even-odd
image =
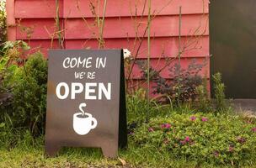
MULTIPOLYGON (((0 150, 0 167, 196 167, 197 163, 185 159, 175 160, 167 152, 153 146, 136 148, 133 144, 127 150, 120 150, 119 159, 105 159, 99 149, 62 149, 56 157, 46 158, 44 146, 19 145, 13 149, 0 150)), ((214 167, 214 165, 201 165, 214 167)))

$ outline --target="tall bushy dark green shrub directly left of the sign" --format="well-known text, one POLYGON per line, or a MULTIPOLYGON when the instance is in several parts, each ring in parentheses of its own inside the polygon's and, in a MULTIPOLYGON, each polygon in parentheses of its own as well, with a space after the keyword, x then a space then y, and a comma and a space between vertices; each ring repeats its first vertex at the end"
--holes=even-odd
POLYGON ((24 66, 6 81, 12 86, 13 113, 8 113, 15 128, 28 128, 34 135, 44 132, 47 62, 40 53, 30 55, 24 66))

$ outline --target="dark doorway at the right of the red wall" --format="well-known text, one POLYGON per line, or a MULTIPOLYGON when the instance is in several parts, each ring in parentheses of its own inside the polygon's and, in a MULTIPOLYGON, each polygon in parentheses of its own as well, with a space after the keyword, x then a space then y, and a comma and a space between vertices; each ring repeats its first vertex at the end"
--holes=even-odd
POLYGON ((221 72, 228 98, 256 98, 256 1, 210 4, 211 74, 221 72))

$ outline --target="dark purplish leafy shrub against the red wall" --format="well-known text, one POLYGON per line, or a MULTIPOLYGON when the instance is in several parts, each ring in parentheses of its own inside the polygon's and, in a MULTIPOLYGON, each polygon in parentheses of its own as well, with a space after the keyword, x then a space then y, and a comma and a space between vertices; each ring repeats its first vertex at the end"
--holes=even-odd
POLYGON ((203 64, 198 64, 193 60, 187 69, 180 69, 180 71, 180 65, 175 64, 169 69, 173 81, 168 81, 156 74, 157 77, 152 80, 157 83, 157 86, 153 87, 154 93, 168 95, 173 102, 178 102, 178 98, 180 102, 194 101, 197 97, 196 87, 200 86, 203 81, 199 72, 205 63, 206 61, 203 64))

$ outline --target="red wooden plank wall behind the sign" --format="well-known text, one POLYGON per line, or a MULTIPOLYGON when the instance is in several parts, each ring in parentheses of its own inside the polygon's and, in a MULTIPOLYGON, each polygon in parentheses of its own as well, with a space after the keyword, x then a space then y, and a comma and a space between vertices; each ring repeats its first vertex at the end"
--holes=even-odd
MULTIPOLYGON (((93 26, 94 15, 90 2, 95 4, 97 10, 97 0, 59 0, 58 7, 56 0, 8 0, 8 39, 24 39, 44 53, 49 48, 58 48, 58 8, 64 48, 98 48, 96 37, 99 31, 93 26)), ((100 2, 99 15, 102 16, 104 1, 100 2)), ((147 8, 142 15, 143 2, 144 0, 108 0, 104 26, 105 48, 127 48, 135 55, 139 45, 137 38, 143 37, 147 26, 147 8), (141 24, 137 31, 136 24, 141 24)), ((182 45, 188 41, 196 42, 196 47, 193 43, 182 54, 181 64, 186 68, 193 59, 205 61, 209 56, 208 3, 208 0, 152 0, 152 11, 157 13, 152 20, 151 29, 152 66, 159 69, 165 64, 166 57, 178 54, 179 6, 182 6, 182 45)), ((147 58, 147 38, 141 45, 139 58, 147 58)), ((206 61, 207 65, 200 73, 209 78, 209 59, 206 61)), ((174 63, 175 61, 170 66, 174 63)), ((161 74, 165 78, 172 77, 169 76, 168 68, 161 74)), ((133 77, 140 76, 140 70, 135 67, 133 77)))

